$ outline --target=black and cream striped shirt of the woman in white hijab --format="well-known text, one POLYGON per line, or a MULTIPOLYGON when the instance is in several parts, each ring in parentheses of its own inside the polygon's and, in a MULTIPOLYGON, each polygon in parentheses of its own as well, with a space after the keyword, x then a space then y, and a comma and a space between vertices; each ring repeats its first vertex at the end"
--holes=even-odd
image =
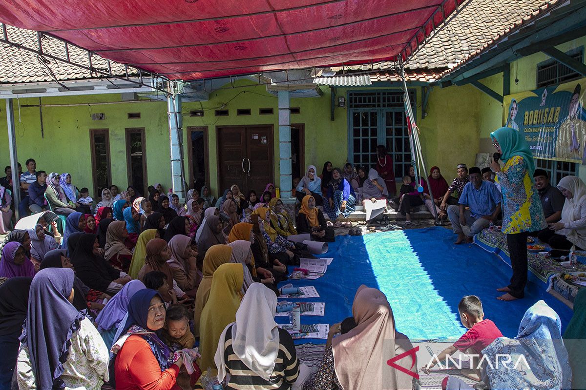
POLYGON ((229 327, 224 341, 224 361, 226 361, 226 370, 230 374, 230 382, 227 383, 226 388, 239 390, 290 389, 291 384, 299 376, 299 360, 297 360, 293 339, 286 330, 279 329, 279 340, 279 352, 275 359, 275 368, 272 370, 271 378, 265 381, 246 367, 238 356, 234 354, 232 349, 232 327, 229 327))

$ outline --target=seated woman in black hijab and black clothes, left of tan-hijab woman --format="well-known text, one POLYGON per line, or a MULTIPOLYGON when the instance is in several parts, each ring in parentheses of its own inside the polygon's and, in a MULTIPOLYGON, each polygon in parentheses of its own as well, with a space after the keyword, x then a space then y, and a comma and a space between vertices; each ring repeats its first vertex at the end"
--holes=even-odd
POLYGON ((77 276, 88 287, 106 294, 116 294, 130 282, 130 277, 99 256, 99 249, 95 234, 81 234, 73 256, 70 256, 71 264, 74 265, 77 276))

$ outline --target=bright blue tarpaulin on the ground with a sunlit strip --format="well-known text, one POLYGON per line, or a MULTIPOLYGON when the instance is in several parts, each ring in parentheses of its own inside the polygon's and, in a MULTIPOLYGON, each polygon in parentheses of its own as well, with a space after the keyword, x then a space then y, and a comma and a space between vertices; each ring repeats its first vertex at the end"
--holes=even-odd
MULTIPOLYGON (((287 281, 295 287, 313 285, 320 295, 300 301, 326 302, 325 316, 302 316, 301 323, 331 325, 352 316, 356 289, 365 284, 384 292, 397 330, 411 340, 461 336, 465 328, 459 320, 458 302, 464 295, 478 295, 485 318, 493 320, 507 337, 516 336, 524 312, 539 299, 556 310, 562 326, 567 325, 570 308, 548 294, 543 285, 529 282, 524 299, 498 301, 496 288, 509 283, 510 266, 474 244, 454 245, 454 240, 451 230, 443 227, 337 236, 328 253, 321 256, 334 258, 323 277, 287 281)), ((288 318, 276 317, 276 321, 288 323, 288 318)), ((309 342, 325 340, 296 340, 296 344, 309 342)))

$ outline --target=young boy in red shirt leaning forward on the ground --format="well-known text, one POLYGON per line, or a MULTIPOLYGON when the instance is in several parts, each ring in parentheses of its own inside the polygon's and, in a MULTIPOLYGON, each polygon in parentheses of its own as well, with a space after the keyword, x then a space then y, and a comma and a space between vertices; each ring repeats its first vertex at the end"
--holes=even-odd
POLYGON ((471 369, 463 369, 462 374, 475 381, 480 381, 480 370, 476 370, 478 362, 482 358, 482 350, 488 347, 495 339, 503 337, 498 327, 491 320, 484 319, 482 311, 482 302, 475 295, 467 295, 458 303, 458 312, 462 325, 468 329, 454 345, 445 348, 438 356, 437 360, 432 358, 425 371, 429 371, 435 364, 445 362, 445 357, 461 351, 470 355, 479 356, 471 361, 471 369))

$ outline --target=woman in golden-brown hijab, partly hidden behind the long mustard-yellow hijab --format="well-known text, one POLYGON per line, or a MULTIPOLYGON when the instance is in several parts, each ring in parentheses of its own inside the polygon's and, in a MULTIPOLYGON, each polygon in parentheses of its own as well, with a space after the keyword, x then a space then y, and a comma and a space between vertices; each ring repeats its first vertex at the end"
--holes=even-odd
MULTIPOLYGON (((232 248, 227 245, 212 245, 206 252, 206 257, 203 258, 203 279, 197 287, 195 295, 195 310, 193 312, 193 336, 199 336, 200 331, 200 316, 202 310, 206 305, 207 294, 212 288, 212 278, 214 272, 224 263, 230 263, 232 256, 232 248)), ((240 266, 242 267, 242 266, 240 266)), ((244 270, 243 278, 244 278, 244 270)), ((207 368, 207 367, 206 367, 207 368)))

